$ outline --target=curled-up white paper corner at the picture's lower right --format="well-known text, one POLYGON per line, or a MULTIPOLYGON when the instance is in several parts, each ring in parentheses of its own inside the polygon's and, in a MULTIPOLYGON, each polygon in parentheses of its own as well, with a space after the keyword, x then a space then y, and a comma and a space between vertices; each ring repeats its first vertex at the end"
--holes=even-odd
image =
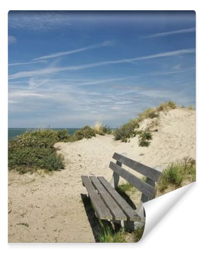
POLYGON ((170 211, 170 209, 195 185, 195 182, 184 187, 177 188, 165 195, 157 197, 151 201, 143 203, 146 214, 146 221, 142 238, 139 242, 154 229, 160 220, 170 211))

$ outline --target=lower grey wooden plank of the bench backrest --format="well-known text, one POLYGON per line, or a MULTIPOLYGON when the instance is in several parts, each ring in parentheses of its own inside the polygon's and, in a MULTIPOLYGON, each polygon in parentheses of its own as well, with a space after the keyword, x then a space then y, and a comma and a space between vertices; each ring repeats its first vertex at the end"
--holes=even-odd
POLYGON ((141 179, 137 178, 135 175, 127 172, 124 168, 118 166, 114 162, 110 162, 109 167, 116 172, 119 176, 121 176, 123 179, 128 181, 130 184, 132 184, 134 187, 139 189, 143 194, 145 194, 149 199, 155 198, 156 195, 156 189, 149 184, 145 183, 141 179))

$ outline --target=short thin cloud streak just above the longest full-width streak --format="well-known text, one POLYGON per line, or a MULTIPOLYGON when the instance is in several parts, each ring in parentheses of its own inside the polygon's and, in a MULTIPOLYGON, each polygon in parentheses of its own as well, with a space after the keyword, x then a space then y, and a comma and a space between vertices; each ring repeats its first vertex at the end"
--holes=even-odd
POLYGON ((105 41, 102 44, 90 45, 90 46, 86 46, 86 47, 83 47, 83 48, 79 48, 79 49, 71 50, 71 51, 66 51, 66 52, 57 52, 57 53, 41 56, 39 58, 34 58, 33 60, 56 58, 56 57, 60 57, 60 56, 64 56, 64 55, 73 54, 73 53, 76 53, 76 52, 82 52, 82 51, 87 51, 87 50, 90 50, 90 49, 96 49, 96 48, 100 48, 100 47, 104 47, 104 46, 110 46, 111 44, 112 44, 112 42, 105 41))

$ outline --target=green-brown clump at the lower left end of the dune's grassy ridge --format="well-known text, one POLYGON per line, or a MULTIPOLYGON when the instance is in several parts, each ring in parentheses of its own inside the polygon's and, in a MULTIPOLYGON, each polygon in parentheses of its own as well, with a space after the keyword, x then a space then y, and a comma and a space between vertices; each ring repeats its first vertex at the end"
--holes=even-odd
POLYGON ((113 132, 115 140, 121 140, 127 142, 128 139, 133 138, 137 134, 139 123, 136 119, 131 119, 129 122, 121 125, 118 129, 113 132))

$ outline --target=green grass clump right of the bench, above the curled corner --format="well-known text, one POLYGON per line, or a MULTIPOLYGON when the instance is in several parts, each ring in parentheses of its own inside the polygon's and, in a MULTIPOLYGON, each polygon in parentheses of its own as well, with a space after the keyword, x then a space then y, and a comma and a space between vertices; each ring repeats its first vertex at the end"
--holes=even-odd
POLYGON ((164 169, 161 180, 158 183, 159 191, 163 192, 169 186, 179 188, 185 180, 195 181, 196 162, 192 158, 184 158, 180 161, 172 162, 164 169))

